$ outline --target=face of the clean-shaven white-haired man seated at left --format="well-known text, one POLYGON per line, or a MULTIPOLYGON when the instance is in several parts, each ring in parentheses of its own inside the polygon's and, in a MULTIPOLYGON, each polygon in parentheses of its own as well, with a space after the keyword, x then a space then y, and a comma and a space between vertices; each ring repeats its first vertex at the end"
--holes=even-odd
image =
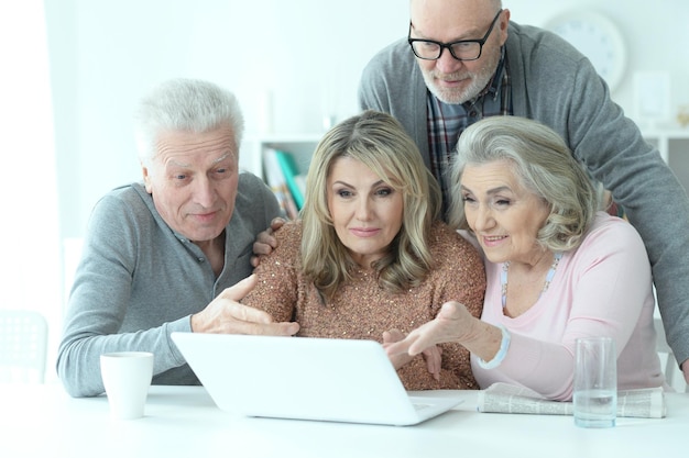
POLYGON ((161 135, 156 152, 142 168, 146 191, 163 220, 195 243, 222 234, 239 180, 232 130, 169 132, 161 135))

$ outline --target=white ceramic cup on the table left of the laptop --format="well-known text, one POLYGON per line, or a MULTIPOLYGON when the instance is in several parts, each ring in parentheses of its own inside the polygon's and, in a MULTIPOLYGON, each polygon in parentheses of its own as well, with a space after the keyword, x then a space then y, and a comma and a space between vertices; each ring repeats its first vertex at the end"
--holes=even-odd
POLYGON ((100 375, 114 418, 143 416, 153 377, 153 354, 118 351, 100 356, 100 375))

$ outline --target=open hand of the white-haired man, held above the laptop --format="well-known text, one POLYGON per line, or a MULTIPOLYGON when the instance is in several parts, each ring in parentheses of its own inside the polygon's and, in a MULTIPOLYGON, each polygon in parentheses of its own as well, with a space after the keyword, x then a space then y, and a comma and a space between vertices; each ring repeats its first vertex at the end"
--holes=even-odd
POLYGON ((250 276, 227 288, 201 312, 192 315, 192 331, 215 334, 255 334, 291 336, 299 331, 298 323, 275 323, 271 315, 238 301, 256 286, 250 276))

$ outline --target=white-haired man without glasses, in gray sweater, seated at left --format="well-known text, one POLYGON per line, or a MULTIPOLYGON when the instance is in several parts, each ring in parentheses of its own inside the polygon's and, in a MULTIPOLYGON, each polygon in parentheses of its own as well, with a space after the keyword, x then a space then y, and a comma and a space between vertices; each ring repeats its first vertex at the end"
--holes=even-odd
POLYGON ((173 332, 298 331, 238 302, 255 281, 253 242, 280 215, 263 181, 239 172, 243 123, 236 97, 207 81, 169 80, 141 101, 143 181, 95 205, 69 295, 57 372, 70 395, 103 392, 110 351, 153 353, 154 384, 198 384, 173 332))

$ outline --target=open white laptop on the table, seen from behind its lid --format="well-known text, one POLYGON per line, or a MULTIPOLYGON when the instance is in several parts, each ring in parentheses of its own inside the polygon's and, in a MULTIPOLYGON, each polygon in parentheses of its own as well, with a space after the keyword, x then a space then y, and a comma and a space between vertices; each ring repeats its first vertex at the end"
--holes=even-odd
POLYGON ((201 333, 172 338, 218 407, 241 415, 403 426, 462 402, 451 392, 409 395, 373 340, 201 333))

